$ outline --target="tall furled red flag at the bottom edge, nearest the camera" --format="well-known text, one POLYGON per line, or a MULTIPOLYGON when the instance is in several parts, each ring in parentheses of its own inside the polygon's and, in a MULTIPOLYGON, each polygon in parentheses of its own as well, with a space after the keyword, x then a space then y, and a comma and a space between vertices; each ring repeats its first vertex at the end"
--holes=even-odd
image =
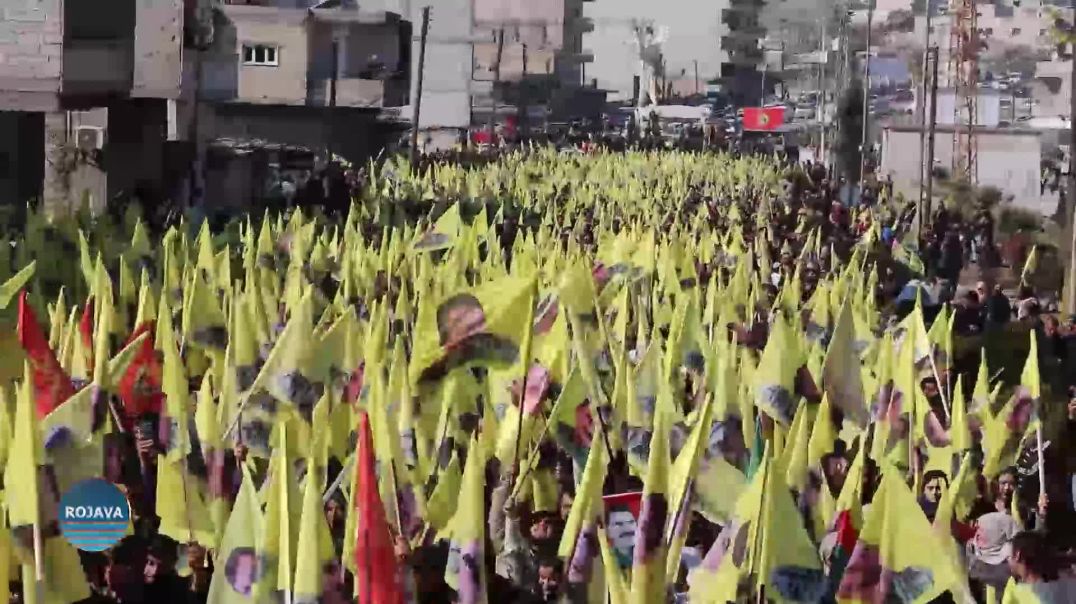
POLYGON ((358 604, 402 604, 396 551, 385 507, 378 493, 373 467, 373 437, 365 412, 358 417, 358 446, 355 451, 355 481, 352 497, 355 521, 355 581, 358 604))

